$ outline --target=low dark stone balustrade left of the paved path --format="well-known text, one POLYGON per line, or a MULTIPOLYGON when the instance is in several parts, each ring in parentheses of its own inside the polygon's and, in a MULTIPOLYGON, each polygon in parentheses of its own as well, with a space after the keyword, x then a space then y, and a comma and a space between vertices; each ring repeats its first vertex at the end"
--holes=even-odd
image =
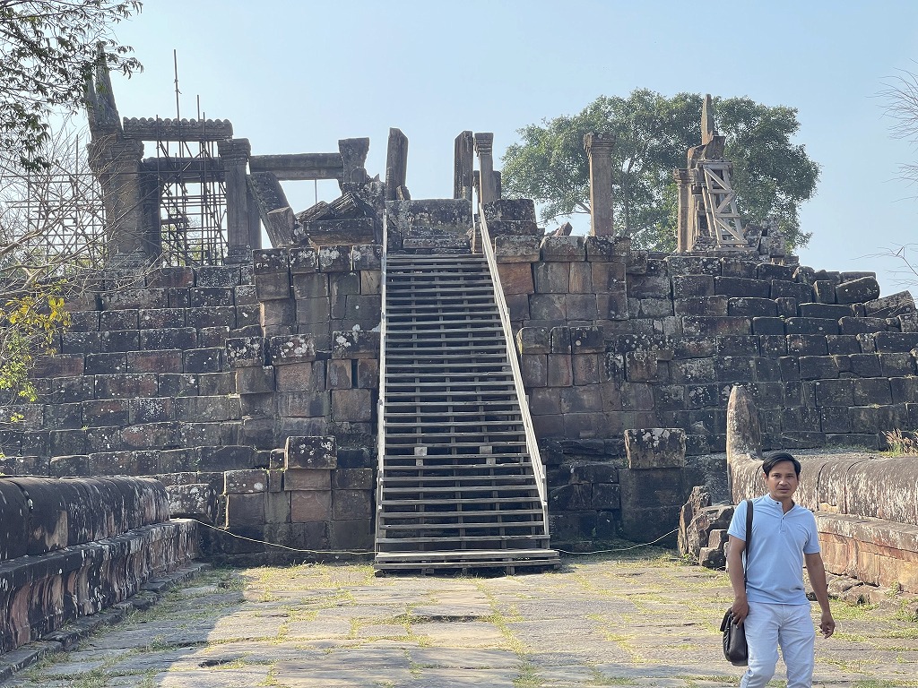
POLYGON ((195 558, 151 478, 0 479, 0 652, 41 638, 195 558))

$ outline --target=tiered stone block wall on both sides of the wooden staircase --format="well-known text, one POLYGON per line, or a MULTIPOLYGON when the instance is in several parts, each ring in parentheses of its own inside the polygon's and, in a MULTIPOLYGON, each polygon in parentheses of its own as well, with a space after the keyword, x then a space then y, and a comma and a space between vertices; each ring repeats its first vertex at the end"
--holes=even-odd
MULTIPOLYGON (((404 227, 389 239, 415 250, 436 248, 431 227, 468 220, 465 202, 393 203, 404 227)), ((531 211, 493 205, 488 227, 555 538, 644 538, 666 525, 632 516, 647 500, 668 515, 709 482, 704 457, 724 449, 734 384, 756 401, 765 449, 876 449, 885 431, 918 427, 911 294, 757 254, 533 236, 531 211), (634 428, 682 430, 686 466, 629 465, 634 428)), ((366 545, 381 255, 375 244, 258 250, 251 266, 103 285, 73 305, 61 353, 39 361, 39 401, 0 435, 0 471, 157 475, 175 514, 312 549, 366 545), (329 487, 289 473, 306 470, 286 464, 292 437, 334 439, 337 464, 308 469, 329 487)))

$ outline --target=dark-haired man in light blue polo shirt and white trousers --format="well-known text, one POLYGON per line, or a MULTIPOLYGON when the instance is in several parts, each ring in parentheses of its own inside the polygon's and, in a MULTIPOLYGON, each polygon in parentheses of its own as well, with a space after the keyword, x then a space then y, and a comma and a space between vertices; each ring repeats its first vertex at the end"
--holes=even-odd
POLYGON ((753 500, 752 540, 744 557, 746 503, 737 505, 727 534, 727 567, 733 586, 733 616, 744 624, 749 668, 741 688, 763 688, 775 673, 778 646, 788 667, 788 688, 810 688, 816 632, 803 588, 803 562, 823 610, 823 636, 834 633, 829 591, 820 555, 816 518, 794 504, 800 461, 786 451, 762 464, 767 493, 753 500), (744 559, 747 580, 743 581, 744 559))

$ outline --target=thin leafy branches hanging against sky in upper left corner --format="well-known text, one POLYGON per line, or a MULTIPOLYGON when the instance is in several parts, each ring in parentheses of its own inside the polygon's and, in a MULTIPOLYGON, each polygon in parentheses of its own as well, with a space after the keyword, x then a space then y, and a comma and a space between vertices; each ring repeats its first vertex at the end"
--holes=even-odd
POLYGON ((0 153, 47 166, 48 118, 83 106, 99 47, 108 67, 140 69, 111 34, 140 8, 139 0, 0 0, 0 153))

